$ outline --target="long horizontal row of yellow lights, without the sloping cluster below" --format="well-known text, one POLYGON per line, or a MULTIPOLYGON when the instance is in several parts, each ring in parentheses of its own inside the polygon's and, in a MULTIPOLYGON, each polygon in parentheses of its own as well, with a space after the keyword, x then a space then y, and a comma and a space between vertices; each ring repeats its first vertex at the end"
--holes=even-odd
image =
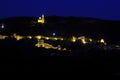
MULTIPOLYGON (((8 38, 9 36, 6 36, 6 35, 0 35, 0 39, 6 39, 8 38)), ((21 40, 21 39, 24 39, 24 38, 28 38, 28 39, 32 39, 32 38, 35 38, 37 40, 41 40, 41 39, 44 39, 44 40, 53 40, 53 41, 57 41, 57 40, 60 40, 60 41, 63 41, 63 40, 67 40, 65 38, 62 38, 62 37, 48 37, 48 36, 42 36, 42 35, 37 35, 37 36, 21 36, 21 35, 17 35, 16 33, 14 33, 12 36, 10 36, 11 38, 15 38, 17 41, 21 40)), ((72 36, 70 38, 70 41, 71 42, 76 42, 76 41, 81 41, 83 44, 87 44, 89 42, 93 42, 93 39, 92 38, 86 38, 85 36, 81 36, 81 37, 75 37, 75 36, 72 36)), ((104 45, 107 45, 107 43, 105 42, 104 39, 100 39, 98 42, 104 44, 104 45)))

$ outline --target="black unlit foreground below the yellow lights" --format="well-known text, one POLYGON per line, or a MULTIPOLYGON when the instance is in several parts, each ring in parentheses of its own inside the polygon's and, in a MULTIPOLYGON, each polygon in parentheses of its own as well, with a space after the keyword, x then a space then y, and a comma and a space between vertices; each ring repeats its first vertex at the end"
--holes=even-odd
POLYGON ((59 52, 36 48, 29 43, 1 41, 0 72, 78 72, 120 74, 119 51, 83 50, 59 52), (24 44, 24 45, 23 45, 24 44))

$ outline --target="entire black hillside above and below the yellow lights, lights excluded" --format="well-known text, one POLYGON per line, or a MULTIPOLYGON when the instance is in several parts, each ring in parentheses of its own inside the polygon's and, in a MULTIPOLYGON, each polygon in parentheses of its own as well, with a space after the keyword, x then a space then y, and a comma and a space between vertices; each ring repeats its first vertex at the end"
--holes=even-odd
MULTIPOLYGON (((44 35, 51 36, 86 36, 93 39, 104 38, 108 44, 120 44, 120 21, 101 20, 96 18, 47 16, 45 24, 37 23, 38 17, 12 17, 0 20, 0 34, 12 35, 44 35)), ((95 45, 81 45, 80 42, 46 41, 63 44, 72 49, 71 52, 37 48, 36 40, 13 38, 0 40, 0 59, 3 72, 79 72, 91 74, 120 73, 119 50, 101 50, 95 45)), ((93 74, 93 75, 94 75, 93 74)))

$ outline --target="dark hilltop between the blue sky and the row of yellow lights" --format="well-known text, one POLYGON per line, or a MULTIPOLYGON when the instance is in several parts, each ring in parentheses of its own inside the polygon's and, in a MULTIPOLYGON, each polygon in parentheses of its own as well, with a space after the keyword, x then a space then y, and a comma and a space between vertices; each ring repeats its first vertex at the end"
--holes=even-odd
POLYGON ((108 42, 119 41, 118 34, 120 21, 102 20, 83 17, 47 16, 45 24, 37 23, 38 17, 11 17, 1 19, 0 23, 5 25, 1 34, 18 33, 22 35, 51 35, 56 32, 58 36, 90 36, 94 38, 103 37, 108 42))

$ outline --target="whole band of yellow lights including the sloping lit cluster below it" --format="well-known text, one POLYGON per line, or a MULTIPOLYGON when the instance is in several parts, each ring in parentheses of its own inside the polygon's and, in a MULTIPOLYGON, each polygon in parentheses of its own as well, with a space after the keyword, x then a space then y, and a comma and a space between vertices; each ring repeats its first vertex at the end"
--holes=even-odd
MULTIPOLYGON (((21 39, 24 39, 24 38, 25 39, 37 39, 38 42, 37 42, 37 44, 35 44, 36 47, 43 47, 43 48, 46 48, 46 49, 56 49, 56 50, 60 50, 60 51, 66 51, 67 49, 66 48, 61 48, 60 45, 54 47, 53 45, 50 45, 48 43, 44 43, 44 40, 52 40, 52 41, 63 41, 63 40, 65 41, 65 40, 69 40, 69 41, 71 41, 73 43, 75 43, 77 41, 80 41, 80 42, 82 42, 83 45, 85 45, 87 43, 94 43, 95 42, 92 38, 86 38, 85 36, 80 36, 80 37, 72 36, 71 38, 66 39, 66 38, 62 38, 62 37, 56 37, 56 36, 48 37, 48 36, 42 36, 42 35, 21 36, 21 35, 17 35, 16 33, 14 33, 11 36, 0 35, 0 39, 1 40, 2 39, 6 39, 6 38, 14 38, 17 41, 19 41, 21 39), (41 40, 43 40, 43 42, 41 40)), ((99 42, 101 44, 104 44, 104 45, 107 45, 107 43, 105 42, 104 39, 100 39, 97 42, 99 42)))

